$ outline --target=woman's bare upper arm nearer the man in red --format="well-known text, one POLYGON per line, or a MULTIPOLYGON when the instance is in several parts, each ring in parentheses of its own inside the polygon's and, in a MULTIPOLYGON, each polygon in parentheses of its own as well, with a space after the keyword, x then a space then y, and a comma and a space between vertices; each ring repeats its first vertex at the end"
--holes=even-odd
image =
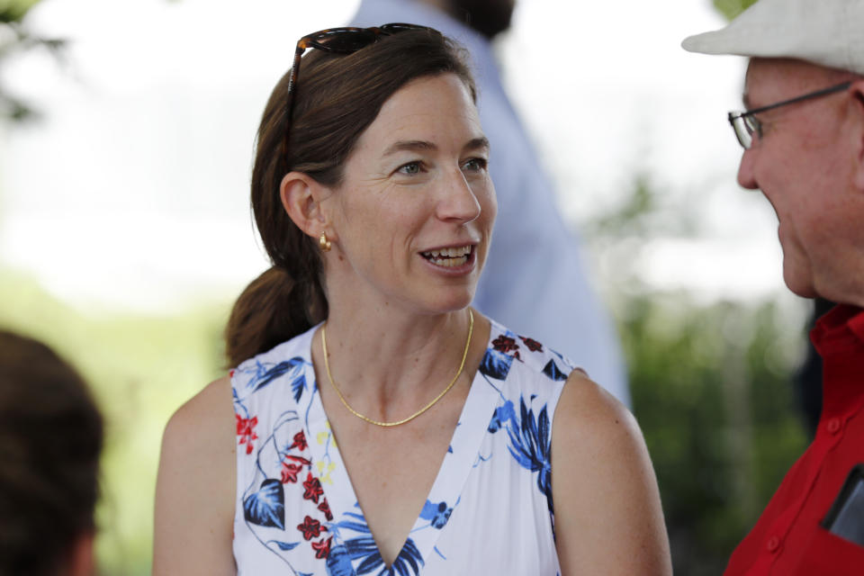
POLYGON ((672 573, 660 493, 639 426, 578 371, 555 410, 552 493, 562 576, 672 573))

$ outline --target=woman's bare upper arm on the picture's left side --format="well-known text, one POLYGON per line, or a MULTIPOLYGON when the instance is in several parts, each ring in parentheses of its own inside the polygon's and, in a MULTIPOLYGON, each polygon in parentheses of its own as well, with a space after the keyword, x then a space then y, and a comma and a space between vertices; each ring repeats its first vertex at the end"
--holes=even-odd
POLYGON ((235 574, 234 414, 230 381, 209 384, 171 417, 156 484, 153 574, 235 574))

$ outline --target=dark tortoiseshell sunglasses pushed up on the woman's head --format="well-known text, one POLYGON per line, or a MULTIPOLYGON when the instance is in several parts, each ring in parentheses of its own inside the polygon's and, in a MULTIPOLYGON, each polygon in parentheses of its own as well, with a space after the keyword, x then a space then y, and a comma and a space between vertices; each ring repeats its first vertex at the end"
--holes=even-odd
POLYGON ((390 23, 370 28, 328 28, 327 30, 312 32, 297 40, 291 76, 288 78, 287 102, 285 103, 285 112, 287 112, 288 118, 291 118, 294 86, 297 84, 298 76, 300 76, 300 61, 306 49, 315 48, 337 54, 353 54, 357 50, 377 42, 382 36, 392 36, 392 34, 408 30, 434 29, 417 24, 390 23))

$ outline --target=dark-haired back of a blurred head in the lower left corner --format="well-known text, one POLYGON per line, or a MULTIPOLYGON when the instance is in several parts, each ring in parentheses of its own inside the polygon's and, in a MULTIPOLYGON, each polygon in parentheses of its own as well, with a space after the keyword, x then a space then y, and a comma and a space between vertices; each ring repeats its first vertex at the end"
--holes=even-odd
POLYGON ((103 419, 49 347, 0 330, 0 575, 94 572, 103 419))

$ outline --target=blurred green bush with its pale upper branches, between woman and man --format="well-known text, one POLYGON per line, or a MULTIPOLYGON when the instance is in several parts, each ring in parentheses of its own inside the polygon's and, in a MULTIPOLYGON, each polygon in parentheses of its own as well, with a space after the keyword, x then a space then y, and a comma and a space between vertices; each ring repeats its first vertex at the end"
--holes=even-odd
POLYGON ((716 300, 646 284, 653 246, 698 243, 710 203, 684 202, 654 180, 647 170, 636 173, 623 199, 582 229, 606 272, 674 572, 707 576, 723 572, 806 447, 790 385, 804 349, 803 318, 773 298, 716 300))

